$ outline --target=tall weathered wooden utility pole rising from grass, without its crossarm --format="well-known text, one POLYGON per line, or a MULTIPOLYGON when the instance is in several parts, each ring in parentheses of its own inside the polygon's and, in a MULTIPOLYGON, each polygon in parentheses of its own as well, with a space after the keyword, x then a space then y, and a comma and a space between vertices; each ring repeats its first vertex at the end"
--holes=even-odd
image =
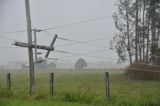
POLYGON ((26 19, 27 19, 27 33, 28 33, 28 53, 29 53, 29 69, 30 69, 30 95, 34 93, 34 62, 33 62, 33 51, 32 51, 32 27, 30 17, 30 5, 29 0, 25 0, 26 5, 26 19))

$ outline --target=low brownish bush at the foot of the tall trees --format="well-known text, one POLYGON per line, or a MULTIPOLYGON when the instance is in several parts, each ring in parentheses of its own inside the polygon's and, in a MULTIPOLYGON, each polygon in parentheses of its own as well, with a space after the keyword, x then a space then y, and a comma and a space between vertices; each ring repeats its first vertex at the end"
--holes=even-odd
POLYGON ((134 63, 125 70, 125 75, 131 80, 160 80, 160 67, 134 63))

